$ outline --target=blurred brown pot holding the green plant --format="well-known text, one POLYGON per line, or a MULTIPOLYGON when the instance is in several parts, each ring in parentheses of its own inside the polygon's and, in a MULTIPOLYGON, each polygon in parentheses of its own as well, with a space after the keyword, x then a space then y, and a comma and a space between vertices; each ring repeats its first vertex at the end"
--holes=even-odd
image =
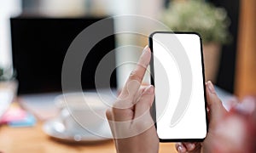
POLYGON ((218 43, 209 42, 203 44, 206 82, 212 81, 214 83, 217 81, 220 51, 221 49, 218 43))

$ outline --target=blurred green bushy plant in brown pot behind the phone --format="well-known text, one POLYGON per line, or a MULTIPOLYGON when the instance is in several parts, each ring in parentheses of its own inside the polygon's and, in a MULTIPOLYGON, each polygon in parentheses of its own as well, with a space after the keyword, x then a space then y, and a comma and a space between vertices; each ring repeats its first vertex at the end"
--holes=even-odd
POLYGON ((195 31, 201 35, 206 80, 216 81, 220 47, 230 42, 230 20, 224 8, 202 0, 172 1, 162 14, 172 31, 195 31))

